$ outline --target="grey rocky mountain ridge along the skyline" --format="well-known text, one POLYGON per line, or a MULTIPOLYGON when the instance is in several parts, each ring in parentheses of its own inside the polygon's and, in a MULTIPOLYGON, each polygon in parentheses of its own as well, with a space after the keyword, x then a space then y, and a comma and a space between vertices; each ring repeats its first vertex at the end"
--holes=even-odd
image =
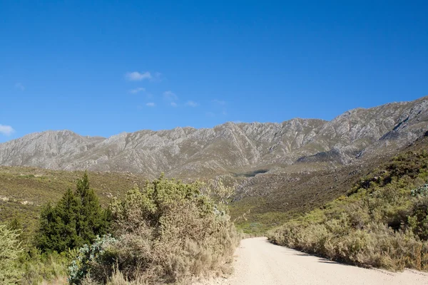
POLYGON ((84 137, 68 130, 33 133, 0 144, 0 165, 54 170, 205 177, 253 170, 298 172, 358 163, 412 143, 428 130, 428 97, 357 108, 331 121, 224 123, 84 137))

